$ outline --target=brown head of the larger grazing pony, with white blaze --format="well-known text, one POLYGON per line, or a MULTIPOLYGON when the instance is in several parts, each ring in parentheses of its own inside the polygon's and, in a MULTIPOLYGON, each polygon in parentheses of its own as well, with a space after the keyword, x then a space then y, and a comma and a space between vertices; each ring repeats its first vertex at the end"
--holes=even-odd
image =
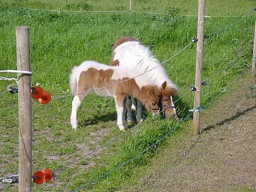
POLYGON ((161 114, 164 118, 173 117, 178 119, 176 108, 173 103, 173 96, 176 95, 177 90, 166 86, 166 82, 162 83, 162 94, 161 99, 159 100, 159 106, 161 114))

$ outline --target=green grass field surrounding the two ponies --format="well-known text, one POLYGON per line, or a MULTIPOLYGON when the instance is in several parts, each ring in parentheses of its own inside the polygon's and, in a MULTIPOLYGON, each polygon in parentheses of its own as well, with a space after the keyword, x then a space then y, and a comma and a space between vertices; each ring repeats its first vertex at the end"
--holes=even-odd
MULTIPOLYGON (((206 18, 204 63, 202 77, 211 78, 202 90, 202 106, 228 85, 237 74, 251 63, 255 7, 254 1, 207 1, 207 15, 247 15, 245 18, 206 18), (231 24, 231 25, 229 25, 231 24), (220 30, 220 31, 219 31, 220 30), (234 59, 236 58, 236 59, 234 59)), ((37 82, 53 97, 69 95, 71 68, 84 60, 109 63, 115 40, 122 36, 140 39, 150 47, 160 61, 165 61, 196 37, 196 18, 180 14, 196 14, 197 1, 136 1, 132 10, 154 11, 144 13, 82 13, 55 10, 127 10, 129 1, 7 1, 0 2, 0 70, 16 69, 15 26, 30 27, 32 86, 37 82), (113 3, 114 2, 114 3, 113 3), (31 10, 40 9, 40 10, 31 10)), ((196 44, 165 63, 170 78, 181 91, 176 99, 194 84, 196 44)), ((14 74, 1 73, 4 77, 14 74)), ((1 81, 0 94, 9 84, 1 81)), ((114 100, 90 94, 78 112, 78 130, 71 131, 69 115, 72 97, 55 99, 47 106, 32 102, 33 111, 33 171, 56 170, 112 141, 122 133, 115 123, 114 100)), ((178 103, 179 117, 183 118, 193 107, 193 93, 178 103)), ((0 96, 0 177, 18 173, 18 98, 5 93, 0 96)), ((49 184, 34 185, 33 191, 71 191, 103 175, 129 160, 177 123, 173 120, 152 120, 135 131, 104 147, 102 150, 63 168, 58 179, 49 184)), ((133 125, 132 127, 135 127, 133 125)), ((141 158, 120 168, 86 191, 115 191, 121 185, 135 183, 142 167, 165 144, 175 144, 179 138, 191 134, 191 119, 141 158)), ((7 185, 3 191, 17 191, 16 185, 7 185)))

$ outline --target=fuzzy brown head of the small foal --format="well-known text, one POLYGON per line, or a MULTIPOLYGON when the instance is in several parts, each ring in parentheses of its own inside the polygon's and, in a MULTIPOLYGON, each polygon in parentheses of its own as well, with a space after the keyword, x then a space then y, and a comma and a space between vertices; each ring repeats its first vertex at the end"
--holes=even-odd
POLYGON ((146 110, 152 115, 157 114, 159 112, 159 98, 161 97, 161 90, 156 86, 150 85, 144 86, 142 88, 142 92, 144 92, 144 97, 146 97, 143 102, 146 110))

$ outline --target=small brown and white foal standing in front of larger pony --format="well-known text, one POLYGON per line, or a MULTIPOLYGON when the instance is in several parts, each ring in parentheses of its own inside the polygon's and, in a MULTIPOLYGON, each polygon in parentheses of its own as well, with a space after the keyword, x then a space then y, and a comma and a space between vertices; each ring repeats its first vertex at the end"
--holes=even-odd
POLYGON ((95 90, 94 92, 100 96, 114 97, 117 109, 117 125, 120 130, 125 130, 125 104, 128 97, 138 98, 148 112, 158 113, 161 90, 153 85, 153 82, 147 79, 146 75, 123 82, 135 77, 135 75, 137 75, 136 72, 130 72, 126 68, 107 66, 96 61, 84 61, 81 65, 73 67, 70 75, 70 86, 72 93, 76 95, 72 101, 70 120, 72 129, 77 129, 77 110, 87 95, 85 92, 90 90, 95 90), (113 84, 117 85, 109 86, 113 84), (105 88, 106 86, 108 87, 105 88))

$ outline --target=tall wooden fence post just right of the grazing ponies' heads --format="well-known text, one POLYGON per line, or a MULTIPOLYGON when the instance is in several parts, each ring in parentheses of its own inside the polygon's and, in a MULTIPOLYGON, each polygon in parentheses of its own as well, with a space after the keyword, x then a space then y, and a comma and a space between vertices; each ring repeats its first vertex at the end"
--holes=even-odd
POLYGON ((200 110, 201 110, 201 85, 202 85, 202 62, 203 62, 203 24, 205 22, 205 0, 198 1, 197 14, 197 44, 196 44, 196 67, 195 67, 195 98, 193 114, 193 131, 200 133, 200 110))

